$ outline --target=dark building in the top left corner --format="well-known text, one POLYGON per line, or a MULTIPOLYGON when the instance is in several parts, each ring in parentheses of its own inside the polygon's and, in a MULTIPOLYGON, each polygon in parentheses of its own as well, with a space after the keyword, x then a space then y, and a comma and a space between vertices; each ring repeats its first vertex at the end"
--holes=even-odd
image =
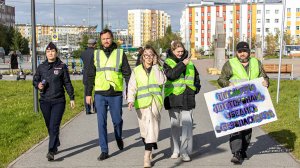
POLYGON ((15 26, 15 7, 5 5, 5 0, 0 0, 0 24, 15 26))

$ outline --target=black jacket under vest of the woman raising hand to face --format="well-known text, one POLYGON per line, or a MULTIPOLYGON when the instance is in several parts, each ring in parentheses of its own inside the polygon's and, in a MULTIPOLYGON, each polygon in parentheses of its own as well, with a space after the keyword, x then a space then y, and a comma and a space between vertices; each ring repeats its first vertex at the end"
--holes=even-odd
MULTIPOLYGON (((185 75, 186 65, 182 62, 185 58, 188 57, 188 51, 184 51, 184 55, 178 59, 171 50, 167 51, 167 58, 170 58, 174 60, 177 65, 174 68, 171 68, 168 64, 164 63, 164 71, 166 74, 166 77, 170 81, 174 81, 180 77, 180 75, 183 73, 185 75)), ((180 110, 191 110, 196 107, 195 102, 195 94, 199 93, 201 85, 200 85, 200 78, 199 73, 195 68, 195 79, 194 79, 194 85, 196 87, 196 91, 193 91, 191 88, 186 87, 185 91, 176 96, 174 94, 171 94, 167 97, 165 97, 164 105, 165 109, 180 109, 180 110)))

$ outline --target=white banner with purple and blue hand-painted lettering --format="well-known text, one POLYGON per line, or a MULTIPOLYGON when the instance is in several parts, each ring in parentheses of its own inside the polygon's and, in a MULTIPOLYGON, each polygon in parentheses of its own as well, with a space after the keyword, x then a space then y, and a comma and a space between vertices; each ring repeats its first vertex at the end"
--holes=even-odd
POLYGON ((216 137, 277 120, 263 78, 204 94, 216 137))

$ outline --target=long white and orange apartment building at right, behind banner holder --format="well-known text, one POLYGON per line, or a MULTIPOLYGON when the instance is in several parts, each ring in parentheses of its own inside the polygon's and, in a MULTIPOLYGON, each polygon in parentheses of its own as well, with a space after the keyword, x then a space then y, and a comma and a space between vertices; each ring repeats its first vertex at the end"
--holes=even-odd
MULTIPOLYGON (((300 37, 298 3, 297 0, 286 0, 284 31, 294 38, 300 37)), ((217 17, 224 20, 227 47, 233 37, 238 37, 240 41, 249 41, 250 37, 261 39, 263 34, 275 34, 281 30, 283 4, 281 0, 265 0, 264 22, 263 6, 262 0, 252 0, 252 3, 250 0, 243 0, 188 4, 182 11, 180 20, 183 42, 194 50, 209 50, 215 37, 217 17)))

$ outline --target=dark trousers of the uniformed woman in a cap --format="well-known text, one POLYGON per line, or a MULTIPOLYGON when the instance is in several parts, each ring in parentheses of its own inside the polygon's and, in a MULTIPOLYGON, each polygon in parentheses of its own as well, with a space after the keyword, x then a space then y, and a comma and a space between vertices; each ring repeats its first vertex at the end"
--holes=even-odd
POLYGON ((59 127, 65 111, 66 102, 53 103, 40 101, 40 107, 49 135, 49 152, 54 152, 60 146, 59 127))

